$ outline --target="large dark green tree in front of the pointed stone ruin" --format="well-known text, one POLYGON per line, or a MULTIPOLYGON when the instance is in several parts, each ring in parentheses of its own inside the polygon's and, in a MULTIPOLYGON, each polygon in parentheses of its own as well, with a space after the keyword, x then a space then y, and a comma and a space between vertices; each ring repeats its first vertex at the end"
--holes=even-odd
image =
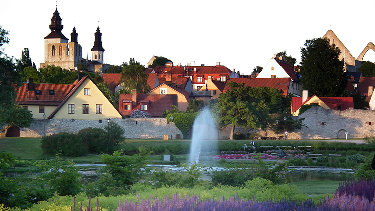
POLYGON ((327 38, 306 40, 301 49, 301 83, 309 95, 339 97, 346 90, 347 80, 343 62, 339 60, 340 49, 330 45, 327 38))

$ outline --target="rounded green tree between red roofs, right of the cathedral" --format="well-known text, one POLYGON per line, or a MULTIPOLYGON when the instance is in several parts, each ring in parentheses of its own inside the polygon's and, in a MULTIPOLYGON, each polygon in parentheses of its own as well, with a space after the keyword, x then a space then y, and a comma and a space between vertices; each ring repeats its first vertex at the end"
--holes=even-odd
POLYGON ((148 92, 150 85, 147 84, 148 74, 145 73, 146 67, 131 58, 129 65, 123 68, 121 81, 124 82, 124 88, 127 90, 136 89, 137 92, 148 92))

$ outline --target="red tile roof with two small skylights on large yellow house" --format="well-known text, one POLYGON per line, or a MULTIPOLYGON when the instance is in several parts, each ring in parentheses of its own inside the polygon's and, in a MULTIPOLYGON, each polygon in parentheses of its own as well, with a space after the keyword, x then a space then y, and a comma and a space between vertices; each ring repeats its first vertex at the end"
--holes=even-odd
POLYGON ((23 83, 16 88, 17 104, 58 106, 74 87, 72 84, 34 84, 34 90, 29 90, 28 85, 23 83), (40 90, 41 94, 36 94, 35 90, 40 90), (50 90, 53 90, 53 94, 50 94, 50 90))

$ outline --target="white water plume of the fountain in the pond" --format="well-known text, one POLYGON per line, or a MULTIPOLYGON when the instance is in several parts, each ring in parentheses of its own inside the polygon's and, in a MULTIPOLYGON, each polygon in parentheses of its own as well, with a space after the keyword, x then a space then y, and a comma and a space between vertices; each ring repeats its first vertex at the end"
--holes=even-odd
POLYGON ((218 130, 211 115, 211 111, 206 107, 196 117, 193 123, 192 144, 190 146, 189 163, 194 164, 199 162, 199 155, 201 148, 205 147, 216 151, 216 142, 218 139, 218 130), (209 144, 209 146, 208 146, 209 144))

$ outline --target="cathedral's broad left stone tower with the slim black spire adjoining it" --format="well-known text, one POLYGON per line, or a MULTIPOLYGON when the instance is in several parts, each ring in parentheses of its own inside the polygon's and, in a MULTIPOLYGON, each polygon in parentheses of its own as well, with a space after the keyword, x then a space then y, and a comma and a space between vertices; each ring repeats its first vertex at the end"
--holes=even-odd
POLYGON ((82 47, 78 44, 75 27, 71 33, 71 42, 68 43, 68 38, 61 32, 64 28, 61 20, 56 8, 49 25, 51 33, 44 38, 44 63, 40 63, 41 68, 55 65, 64 69, 75 69, 77 64, 82 62, 82 47))

